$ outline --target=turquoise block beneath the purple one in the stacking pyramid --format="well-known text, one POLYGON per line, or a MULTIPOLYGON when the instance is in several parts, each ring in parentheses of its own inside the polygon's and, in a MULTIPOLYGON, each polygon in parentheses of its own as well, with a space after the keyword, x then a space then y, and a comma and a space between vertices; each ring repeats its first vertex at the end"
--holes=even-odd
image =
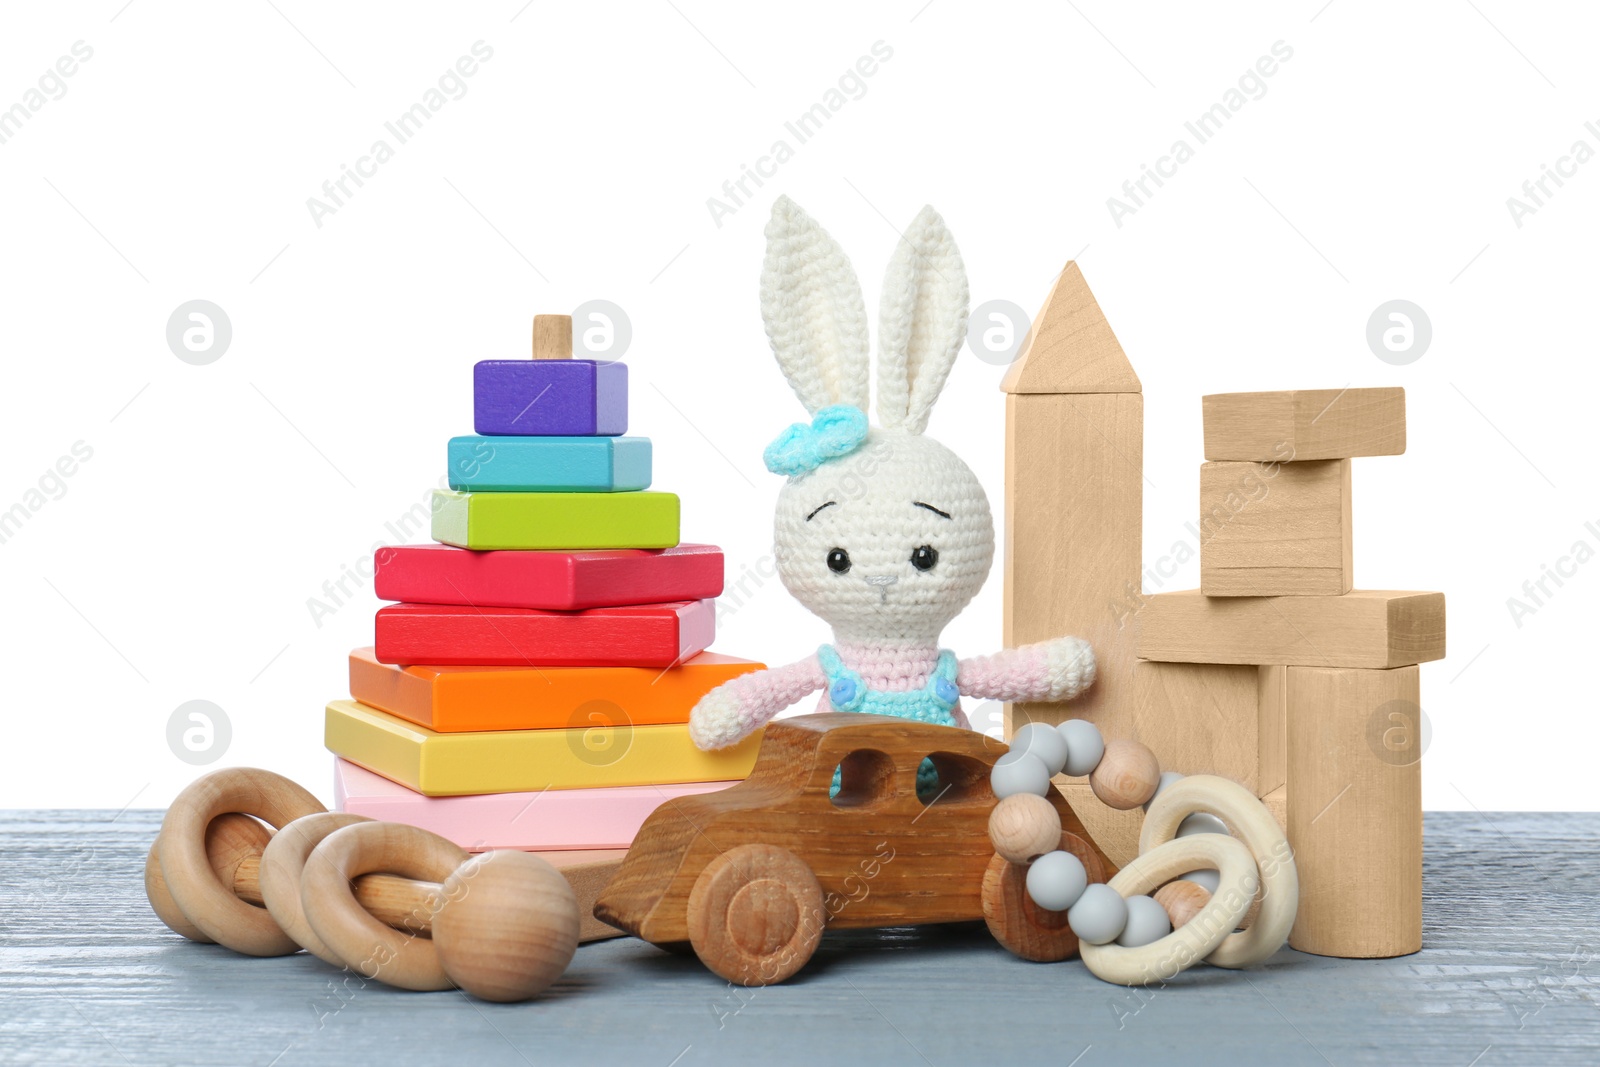
POLYGON ((648 490, 648 437, 451 437, 451 490, 627 493, 648 490))

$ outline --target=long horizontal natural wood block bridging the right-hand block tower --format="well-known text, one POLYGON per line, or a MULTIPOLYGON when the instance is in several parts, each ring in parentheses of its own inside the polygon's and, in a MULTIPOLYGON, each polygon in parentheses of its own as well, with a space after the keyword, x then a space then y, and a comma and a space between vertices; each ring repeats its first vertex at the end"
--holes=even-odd
POLYGON ((1445 656, 1445 593, 1358 589, 1344 597, 1154 593, 1139 656, 1163 662, 1402 667, 1445 656))

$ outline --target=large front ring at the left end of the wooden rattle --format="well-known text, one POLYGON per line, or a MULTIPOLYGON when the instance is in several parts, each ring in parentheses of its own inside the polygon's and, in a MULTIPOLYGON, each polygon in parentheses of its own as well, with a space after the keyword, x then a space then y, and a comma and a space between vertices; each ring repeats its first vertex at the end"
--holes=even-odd
POLYGON ((208 939, 253 957, 280 957, 299 945, 270 913, 238 899, 222 885, 206 856, 206 829, 229 814, 248 814, 274 827, 323 811, 290 779, 251 768, 213 771, 195 781, 166 809, 155 856, 165 891, 184 918, 208 939))

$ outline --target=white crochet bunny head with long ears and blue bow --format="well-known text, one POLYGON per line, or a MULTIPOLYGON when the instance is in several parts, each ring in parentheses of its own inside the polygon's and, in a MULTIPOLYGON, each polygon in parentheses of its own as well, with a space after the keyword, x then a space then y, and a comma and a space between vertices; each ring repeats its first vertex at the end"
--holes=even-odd
POLYGON ((934 645, 982 587, 994 518, 978 477, 923 435, 966 334, 966 269, 923 208, 890 259, 878 310, 880 427, 867 426, 867 317, 850 259, 782 197, 766 226, 762 317, 813 414, 766 450, 778 573, 854 645, 934 645))

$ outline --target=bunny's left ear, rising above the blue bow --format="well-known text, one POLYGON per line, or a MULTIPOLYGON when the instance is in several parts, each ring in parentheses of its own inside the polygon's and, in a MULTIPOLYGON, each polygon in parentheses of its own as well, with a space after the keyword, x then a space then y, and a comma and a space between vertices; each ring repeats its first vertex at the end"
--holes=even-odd
POLYGON ((867 309, 838 243, 789 197, 773 205, 762 320, 778 366, 806 411, 867 406, 867 309))

